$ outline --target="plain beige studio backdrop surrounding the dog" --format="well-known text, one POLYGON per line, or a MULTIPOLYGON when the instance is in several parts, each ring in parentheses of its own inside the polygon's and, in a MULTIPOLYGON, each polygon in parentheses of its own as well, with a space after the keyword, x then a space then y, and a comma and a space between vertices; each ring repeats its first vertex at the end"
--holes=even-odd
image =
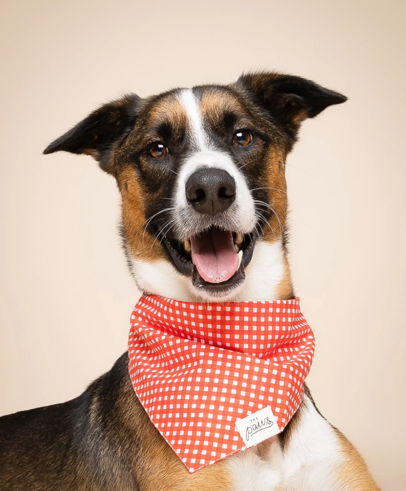
POLYGON ((41 151, 99 103, 279 69, 349 101, 290 156, 291 263, 321 412, 406 489, 404 2, 2 2, 0 414, 75 397, 126 349, 119 195, 41 151))

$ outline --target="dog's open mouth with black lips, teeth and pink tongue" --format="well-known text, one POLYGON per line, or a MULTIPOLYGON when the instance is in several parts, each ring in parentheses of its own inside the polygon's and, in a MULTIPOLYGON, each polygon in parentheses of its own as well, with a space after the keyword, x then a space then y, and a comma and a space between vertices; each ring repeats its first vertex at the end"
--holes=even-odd
POLYGON ((210 227, 182 241, 164 238, 170 257, 198 288, 221 295, 244 281, 254 251, 254 233, 242 235, 210 227))

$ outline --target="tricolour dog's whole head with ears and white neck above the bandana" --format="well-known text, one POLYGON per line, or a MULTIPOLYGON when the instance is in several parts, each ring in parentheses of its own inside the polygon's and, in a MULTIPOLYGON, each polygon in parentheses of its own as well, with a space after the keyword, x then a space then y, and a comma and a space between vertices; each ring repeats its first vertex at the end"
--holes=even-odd
POLYGON ((341 94, 275 73, 102 106, 44 153, 91 154, 116 177, 130 269, 185 300, 292 295, 285 159, 300 123, 341 94))

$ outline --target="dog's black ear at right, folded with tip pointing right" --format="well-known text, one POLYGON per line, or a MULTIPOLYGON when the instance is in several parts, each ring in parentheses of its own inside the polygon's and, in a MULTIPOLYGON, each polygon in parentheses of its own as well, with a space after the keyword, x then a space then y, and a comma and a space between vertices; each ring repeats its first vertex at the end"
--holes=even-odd
POLYGON ((292 137, 296 136, 302 121, 347 100, 343 94, 311 80, 275 72, 241 75, 237 86, 247 91, 257 105, 292 133, 292 137))

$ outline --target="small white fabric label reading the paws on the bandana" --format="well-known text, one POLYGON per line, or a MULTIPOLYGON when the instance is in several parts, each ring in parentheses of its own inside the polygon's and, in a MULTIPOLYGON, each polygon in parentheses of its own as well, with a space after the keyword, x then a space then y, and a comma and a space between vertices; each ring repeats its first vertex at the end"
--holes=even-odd
POLYGON ((280 433, 274 413, 269 406, 243 419, 238 419, 235 426, 245 443, 245 447, 253 447, 253 445, 280 433))

